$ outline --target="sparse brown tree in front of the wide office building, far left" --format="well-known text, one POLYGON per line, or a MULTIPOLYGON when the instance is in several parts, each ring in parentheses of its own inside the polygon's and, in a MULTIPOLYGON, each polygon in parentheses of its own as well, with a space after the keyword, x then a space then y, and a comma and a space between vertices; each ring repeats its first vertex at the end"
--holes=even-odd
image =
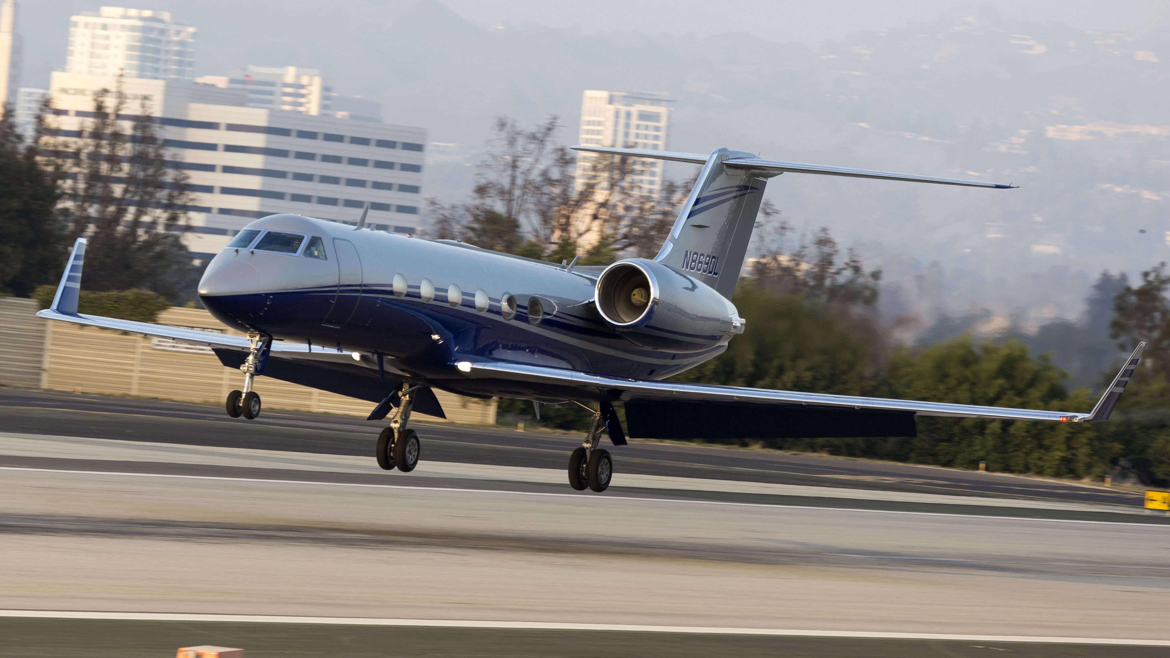
POLYGON ((94 95, 90 118, 76 131, 51 125, 40 136, 40 158, 61 192, 69 238, 85 235, 85 286, 98 290, 147 288, 184 301, 192 285, 186 173, 170 166, 149 103, 126 110, 118 88, 94 95))

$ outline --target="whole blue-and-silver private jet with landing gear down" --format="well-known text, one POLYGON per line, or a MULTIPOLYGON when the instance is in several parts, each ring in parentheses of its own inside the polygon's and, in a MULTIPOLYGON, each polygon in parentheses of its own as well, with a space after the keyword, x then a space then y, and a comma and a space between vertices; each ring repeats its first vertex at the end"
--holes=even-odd
MULTIPOLYGON (((243 372, 227 397, 233 418, 255 418, 255 376, 365 399, 370 420, 391 416, 374 454, 412 471, 421 445, 411 411, 442 417, 433 388, 489 398, 593 403, 593 421, 569 459, 569 484, 605 491, 613 477, 605 431, 626 444, 614 411, 641 438, 913 437, 916 414, 1000 420, 1106 420, 1144 343, 1089 413, 771 391, 667 382, 713 358, 743 333, 731 303, 764 186, 783 173, 820 173, 1006 189, 760 159, 577 146, 580 151, 702 164, 658 256, 574 267, 450 240, 424 240, 301 217, 249 224, 207 266, 199 299, 246 336, 77 313, 85 239, 61 277, 49 320, 209 345, 243 372)), ((576 262, 576 261, 574 261, 576 262)))

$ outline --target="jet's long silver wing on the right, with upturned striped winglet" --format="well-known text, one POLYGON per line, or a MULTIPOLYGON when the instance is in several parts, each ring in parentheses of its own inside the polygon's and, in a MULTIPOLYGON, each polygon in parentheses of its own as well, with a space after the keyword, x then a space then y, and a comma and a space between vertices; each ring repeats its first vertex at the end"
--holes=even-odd
POLYGON ((911 412, 918 416, 951 416, 958 418, 987 418, 992 420, 1054 420, 1059 423, 1088 423, 1108 420, 1121 392, 1134 373, 1145 343, 1138 343, 1113 383, 1106 389, 1093 411, 1075 413, 1068 411, 1044 411, 1037 409, 1007 409, 942 402, 901 400, 867 398, 860 396, 834 396, 828 393, 805 393, 799 391, 772 391, 693 384, 687 382, 658 382, 653 379, 625 379, 605 375, 576 372, 558 368, 503 363, 488 361, 463 361, 457 368, 473 377, 498 377, 521 379, 550 386, 589 390, 591 397, 611 402, 709 402, 757 405, 783 405, 823 410, 865 410, 911 412))

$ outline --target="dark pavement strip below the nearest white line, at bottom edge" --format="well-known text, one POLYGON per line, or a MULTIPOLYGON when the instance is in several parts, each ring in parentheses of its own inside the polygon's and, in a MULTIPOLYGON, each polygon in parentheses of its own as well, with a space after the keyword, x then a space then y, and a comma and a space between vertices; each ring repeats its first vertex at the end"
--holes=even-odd
POLYGON ((180 646, 241 647, 248 658, 443 656, 450 658, 1154 658, 1161 646, 902 638, 759 637, 574 630, 450 629, 232 622, 0 618, 7 658, 158 658, 180 646))

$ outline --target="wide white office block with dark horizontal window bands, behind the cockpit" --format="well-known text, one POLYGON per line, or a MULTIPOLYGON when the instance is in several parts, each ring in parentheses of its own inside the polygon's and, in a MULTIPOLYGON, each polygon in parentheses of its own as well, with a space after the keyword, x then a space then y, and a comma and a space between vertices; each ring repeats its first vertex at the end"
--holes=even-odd
MULTIPOLYGON (((113 77, 53 74, 53 118, 61 135, 80 137, 92 94, 115 84, 113 77)), ((241 89, 156 80, 123 85, 131 103, 150 103, 171 166, 190 177, 193 229, 184 240, 198 258, 209 258, 245 225, 274 213, 352 224, 369 205, 366 221, 374 229, 425 228, 425 129, 252 108, 241 89)))

